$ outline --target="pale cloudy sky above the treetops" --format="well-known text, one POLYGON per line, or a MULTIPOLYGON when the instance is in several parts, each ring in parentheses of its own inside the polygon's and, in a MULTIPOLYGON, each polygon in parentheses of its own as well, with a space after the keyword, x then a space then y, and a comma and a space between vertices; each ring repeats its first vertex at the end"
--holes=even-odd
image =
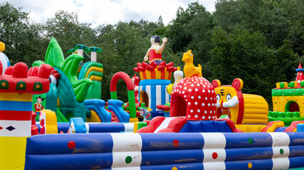
MULTIPOLYGON (((162 16, 165 25, 175 18, 177 8, 187 8, 196 0, 9 0, 15 7, 30 12, 31 20, 45 23, 53 18, 56 11, 64 10, 78 13, 80 23, 91 23, 95 28, 101 24, 115 24, 118 21, 155 22, 162 16)), ((213 12, 216 0, 199 0, 207 11, 213 12)), ((0 0, 0 3, 4 3, 0 0)))

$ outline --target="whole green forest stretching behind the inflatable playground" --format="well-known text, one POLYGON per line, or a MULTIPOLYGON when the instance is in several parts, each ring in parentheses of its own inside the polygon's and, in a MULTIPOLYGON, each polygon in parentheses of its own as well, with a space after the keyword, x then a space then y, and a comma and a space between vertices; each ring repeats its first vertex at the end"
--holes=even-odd
MULTIPOLYGON (((100 47, 98 62, 104 65, 103 99, 110 98, 110 80, 116 72, 132 77, 150 47, 150 37, 160 35, 168 42, 163 60, 183 67, 182 54, 192 50, 194 64, 201 64, 203 77, 221 84, 235 78, 244 82, 243 93, 259 94, 271 104, 276 82, 294 81, 295 69, 304 61, 303 0, 217 0, 210 13, 198 2, 177 8, 175 18, 164 26, 158 21, 119 22, 92 28, 80 23, 77 13, 58 11, 46 23, 34 23, 29 12, 0 4, 0 41, 11 64, 28 66, 43 60, 51 38, 65 54, 75 45, 100 47)), ((127 101, 123 81, 117 85, 127 101)))

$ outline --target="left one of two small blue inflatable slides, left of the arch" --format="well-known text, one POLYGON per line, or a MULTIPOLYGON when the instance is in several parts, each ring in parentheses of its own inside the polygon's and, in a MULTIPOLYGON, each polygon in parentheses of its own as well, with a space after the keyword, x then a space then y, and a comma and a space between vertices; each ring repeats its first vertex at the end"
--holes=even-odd
POLYGON ((105 110, 105 101, 100 99, 88 99, 85 100, 85 108, 88 110, 95 111, 101 122, 103 123, 110 123, 112 115, 110 112, 105 110))

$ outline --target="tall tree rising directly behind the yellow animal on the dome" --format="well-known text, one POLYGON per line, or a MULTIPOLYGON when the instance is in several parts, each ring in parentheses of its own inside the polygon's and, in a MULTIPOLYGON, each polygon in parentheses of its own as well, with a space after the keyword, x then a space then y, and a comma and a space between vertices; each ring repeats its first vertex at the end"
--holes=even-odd
POLYGON ((169 38, 169 47, 173 52, 181 56, 187 50, 192 50, 194 64, 201 64, 204 77, 211 77, 211 69, 208 66, 210 51, 213 47, 211 37, 215 23, 204 6, 198 2, 189 4, 184 10, 177 10, 177 18, 168 26, 166 36, 169 38))

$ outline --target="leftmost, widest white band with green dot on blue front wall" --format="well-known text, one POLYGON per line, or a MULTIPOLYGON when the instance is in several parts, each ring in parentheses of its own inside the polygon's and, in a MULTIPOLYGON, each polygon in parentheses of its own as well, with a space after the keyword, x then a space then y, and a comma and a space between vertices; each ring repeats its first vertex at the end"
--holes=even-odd
POLYGON ((140 170, 142 163, 142 137, 140 134, 111 133, 110 135, 113 140, 112 170, 140 170))

